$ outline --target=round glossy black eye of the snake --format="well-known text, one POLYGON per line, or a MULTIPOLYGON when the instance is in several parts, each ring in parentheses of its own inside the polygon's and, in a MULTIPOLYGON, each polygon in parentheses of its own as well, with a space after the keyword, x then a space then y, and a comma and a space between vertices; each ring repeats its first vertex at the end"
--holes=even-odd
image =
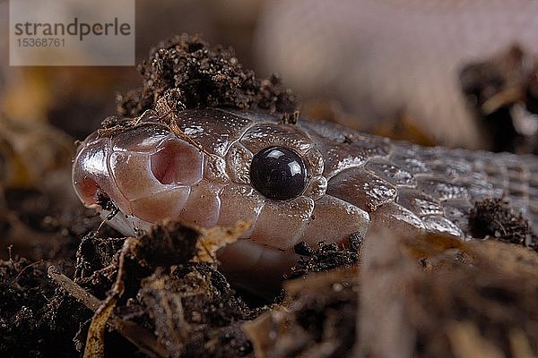
POLYGON ((305 190, 307 167, 294 150, 266 148, 252 158, 250 182, 269 199, 290 200, 305 190))

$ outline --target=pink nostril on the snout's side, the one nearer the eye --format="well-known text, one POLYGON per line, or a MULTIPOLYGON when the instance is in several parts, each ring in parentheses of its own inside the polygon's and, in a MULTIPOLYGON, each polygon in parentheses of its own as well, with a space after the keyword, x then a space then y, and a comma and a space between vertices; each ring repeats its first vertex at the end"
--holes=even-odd
POLYGON ((150 157, 152 174, 162 184, 190 185, 202 179, 202 153, 183 141, 167 141, 150 157))

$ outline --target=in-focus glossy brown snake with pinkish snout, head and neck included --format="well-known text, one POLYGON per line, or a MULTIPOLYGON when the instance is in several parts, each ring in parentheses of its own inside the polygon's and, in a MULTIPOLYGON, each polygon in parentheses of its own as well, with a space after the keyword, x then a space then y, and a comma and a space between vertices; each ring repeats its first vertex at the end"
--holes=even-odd
POLYGON ((219 252, 230 275, 281 277, 293 246, 343 243, 379 227, 470 237, 476 200, 503 195, 538 224, 538 158, 424 148, 324 122, 223 109, 178 112, 183 138, 148 111, 133 128, 91 134, 74 159, 74 188, 99 209, 105 194, 124 234, 170 218, 252 226, 219 252), (254 160, 253 160, 254 158, 254 160), (279 176, 280 175, 280 176, 279 176))

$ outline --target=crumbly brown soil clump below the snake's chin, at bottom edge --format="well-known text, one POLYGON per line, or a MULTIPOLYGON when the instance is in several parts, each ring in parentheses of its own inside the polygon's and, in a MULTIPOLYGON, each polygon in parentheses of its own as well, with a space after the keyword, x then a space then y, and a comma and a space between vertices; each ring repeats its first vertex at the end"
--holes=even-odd
POLYGON ((248 309, 234 297, 226 279, 204 265, 179 271, 179 277, 177 272, 172 277, 156 272, 144 279, 139 293, 170 355, 251 355, 250 342, 240 330, 248 309))

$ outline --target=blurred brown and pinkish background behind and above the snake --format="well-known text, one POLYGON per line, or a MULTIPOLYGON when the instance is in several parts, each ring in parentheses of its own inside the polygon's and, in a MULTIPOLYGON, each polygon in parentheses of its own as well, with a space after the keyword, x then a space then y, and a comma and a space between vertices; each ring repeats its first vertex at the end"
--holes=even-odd
MULTIPOLYGON (((200 33, 233 47, 260 78, 278 72, 303 115, 424 145, 536 151, 534 0, 135 4, 137 63, 165 38, 200 33)), ((135 66, 9 66, 8 6, 0 0, 0 208, 12 227, 24 205, 80 206, 69 177, 74 140, 142 81, 135 66)))

